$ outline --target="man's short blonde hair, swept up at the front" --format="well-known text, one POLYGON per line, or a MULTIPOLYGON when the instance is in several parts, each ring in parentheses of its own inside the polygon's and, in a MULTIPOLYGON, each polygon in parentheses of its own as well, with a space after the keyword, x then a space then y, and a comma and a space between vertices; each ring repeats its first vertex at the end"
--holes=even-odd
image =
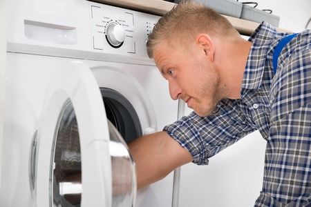
POLYGON ((152 58, 153 50, 163 40, 170 46, 187 46, 201 33, 223 39, 241 38, 232 24, 218 12, 195 1, 181 1, 154 26, 147 41, 147 53, 152 58))

